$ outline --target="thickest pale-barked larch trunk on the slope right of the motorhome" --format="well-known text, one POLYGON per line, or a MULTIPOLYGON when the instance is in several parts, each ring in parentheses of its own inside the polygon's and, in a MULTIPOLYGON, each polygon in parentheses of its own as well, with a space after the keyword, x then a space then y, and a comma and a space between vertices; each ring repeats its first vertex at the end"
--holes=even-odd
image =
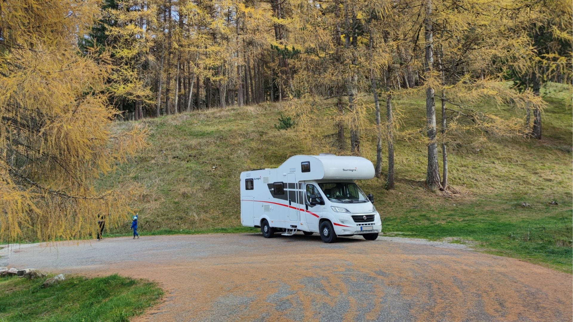
MULTIPOLYGON (((425 18, 425 38, 426 38, 426 77, 430 76, 431 70, 434 67, 434 35, 433 26, 431 21, 431 0, 426 0, 426 18, 425 18)), ((426 89, 426 128, 428 143, 428 160, 426 183, 431 190, 441 189, 439 180, 438 168, 438 146, 435 141, 436 125, 435 125, 435 102, 434 102, 434 88, 428 87, 426 89)))

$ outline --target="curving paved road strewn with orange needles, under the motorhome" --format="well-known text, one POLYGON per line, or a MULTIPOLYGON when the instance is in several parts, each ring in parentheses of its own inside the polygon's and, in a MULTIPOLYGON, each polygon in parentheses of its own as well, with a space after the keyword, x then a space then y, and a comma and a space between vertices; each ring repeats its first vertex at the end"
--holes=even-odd
POLYGON ((16 246, 0 250, 0 266, 157 281, 166 298, 141 321, 573 320, 569 274, 458 247, 323 244, 317 235, 144 236, 16 246))

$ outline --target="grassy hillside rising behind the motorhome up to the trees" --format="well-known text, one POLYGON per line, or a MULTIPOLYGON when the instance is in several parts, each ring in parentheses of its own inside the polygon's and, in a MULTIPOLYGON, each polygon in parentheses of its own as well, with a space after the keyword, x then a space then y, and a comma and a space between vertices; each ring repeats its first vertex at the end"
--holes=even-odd
MULTIPOLYGON (((571 97, 566 87, 557 84, 543 95, 549 105, 543 114, 542 140, 465 139, 450 146, 449 178, 462 192, 459 197, 427 191, 421 184, 426 147, 399 139, 396 189, 384 190, 383 179, 359 183, 364 192, 375 196, 376 208, 384 217, 384 234, 452 237, 449 240, 469 242, 486 252, 571 272, 573 124, 567 104, 571 97), (559 205, 549 205, 551 201, 559 205), (522 202, 531 207, 521 207, 522 202)), ((395 104, 402 113, 400 131, 423 127, 424 97, 395 104)), ((101 178, 99 185, 140 185, 134 206, 143 232, 240 230, 236 227, 240 226, 241 171, 276 167, 296 154, 332 151, 320 145, 304 148, 304 128, 274 128, 283 108, 261 104, 146 119, 150 146, 101 178)), ((509 106, 490 104, 480 109, 502 117, 516 115, 509 106)), ((518 113, 524 115, 524 111, 518 113)), ((130 126, 115 125, 116 131, 130 126)), ((323 134, 332 132, 325 128, 323 134)), ((363 155, 372 159, 374 148, 374 139, 367 135, 363 155)))

